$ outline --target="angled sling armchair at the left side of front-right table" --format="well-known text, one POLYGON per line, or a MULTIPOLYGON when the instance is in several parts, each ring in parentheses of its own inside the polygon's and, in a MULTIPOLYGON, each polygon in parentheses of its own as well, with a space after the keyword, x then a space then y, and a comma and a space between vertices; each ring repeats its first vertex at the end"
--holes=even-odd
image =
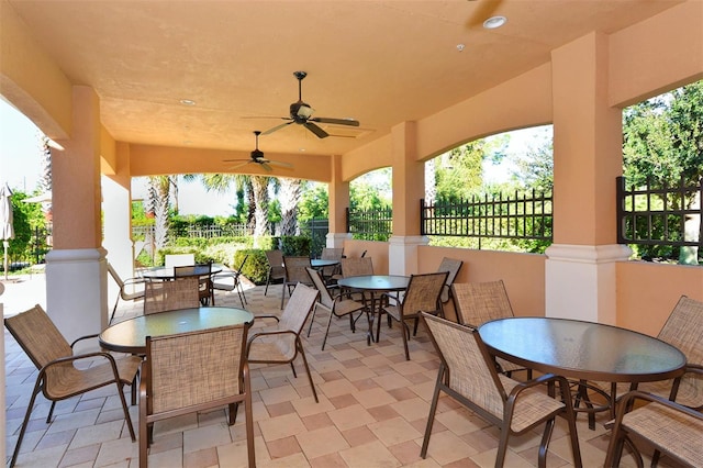
POLYGON ((511 436, 524 434, 545 424, 538 452, 538 466, 544 468, 557 415, 563 415, 568 422, 573 465, 577 468, 582 466, 567 379, 547 374, 526 382, 513 380, 498 372, 493 357, 476 328, 424 312, 420 315, 427 326, 440 359, 420 452, 423 458, 427 456, 439 394, 444 392, 481 419, 498 426, 500 438, 495 467, 505 464, 511 436), (549 397, 544 391, 545 383, 558 387, 558 399, 549 397))

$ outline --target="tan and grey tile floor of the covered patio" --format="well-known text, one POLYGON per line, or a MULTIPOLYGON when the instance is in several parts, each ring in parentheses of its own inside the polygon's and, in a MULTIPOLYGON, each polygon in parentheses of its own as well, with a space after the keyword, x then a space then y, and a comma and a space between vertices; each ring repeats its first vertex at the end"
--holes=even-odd
MULTIPOLYGON (((280 285, 249 286, 247 309, 279 312, 280 285)), ((217 292, 219 305, 238 307, 236 294, 217 292)), ((121 303, 115 320, 141 313, 142 303, 121 303)), ((315 403, 300 358, 298 378, 290 366, 253 366, 256 460, 259 467, 490 467, 498 431, 448 397, 440 400, 426 459, 420 457, 438 359, 423 331, 403 356, 398 324, 381 331, 381 341, 367 346, 365 326, 357 333, 348 321, 333 320, 324 352, 320 349, 326 316, 315 316, 305 338, 308 359, 317 388, 315 403)), ((4 334, 7 372, 7 456, 26 411, 36 369, 4 334)), ((129 401, 129 399, 127 399, 129 401)), ((113 388, 96 390, 57 404, 46 424, 49 403, 38 399, 18 459, 20 467, 136 467, 138 448, 132 443, 113 388)), ((137 423, 137 406, 131 408, 137 423)), ((176 417, 155 425, 152 467, 246 466, 243 415, 227 426, 224 410, 176 417)), ((578 422, 585 467, 602 466, 607 432, 599 420, 590 431, 578 422)), ((507 467, 537 466, 539 432, 515 437, 507 467)), ((666 458, 660 466, 671 466, 666 458)), ((572 466, 568 434, 558 420, 547 458, 548 467, 572 466)), ((623 466, 634 466, 632 457, 623 466)))

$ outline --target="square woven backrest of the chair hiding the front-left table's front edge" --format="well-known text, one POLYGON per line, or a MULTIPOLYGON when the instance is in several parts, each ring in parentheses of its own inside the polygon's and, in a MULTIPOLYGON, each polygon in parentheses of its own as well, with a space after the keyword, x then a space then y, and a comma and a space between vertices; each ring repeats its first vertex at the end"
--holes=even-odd
POLYGON ((248 325, 147 337, 148 414, 185 410, 242 393, 248 325))

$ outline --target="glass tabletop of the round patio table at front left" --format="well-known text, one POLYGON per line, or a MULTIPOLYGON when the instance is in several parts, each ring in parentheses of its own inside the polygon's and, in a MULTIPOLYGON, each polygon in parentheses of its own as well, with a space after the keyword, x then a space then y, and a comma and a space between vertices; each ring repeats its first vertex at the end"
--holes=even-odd
POLYGON ((167 336, 219 326, 252 323, 254 314, 237 308, 193 308, 140 315, 107 327, 100 346, 118 353, 146 353, 147 336, 167 336))

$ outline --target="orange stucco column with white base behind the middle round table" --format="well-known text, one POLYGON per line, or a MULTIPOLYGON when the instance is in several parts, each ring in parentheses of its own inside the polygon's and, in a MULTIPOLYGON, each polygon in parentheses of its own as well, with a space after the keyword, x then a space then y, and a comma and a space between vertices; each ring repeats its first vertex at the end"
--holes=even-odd
POLYGON ((419 271, 417 246, 427 245, 420 235, 420 200, 425 196, 425 165, 417 161, 415 122, 391 129, 393 160, 393 235, 389 239, 390 275, 419 271))

